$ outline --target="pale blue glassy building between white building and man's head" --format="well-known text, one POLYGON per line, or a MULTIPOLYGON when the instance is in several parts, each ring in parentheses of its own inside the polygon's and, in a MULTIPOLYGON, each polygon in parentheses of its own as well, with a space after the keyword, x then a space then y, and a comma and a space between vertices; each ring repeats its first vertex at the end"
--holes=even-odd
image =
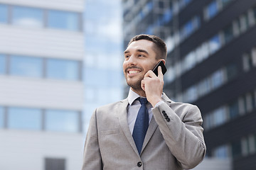
POLYGON ((123 97, 121 1, 85 1, 85 123, 99 106, 123 97))

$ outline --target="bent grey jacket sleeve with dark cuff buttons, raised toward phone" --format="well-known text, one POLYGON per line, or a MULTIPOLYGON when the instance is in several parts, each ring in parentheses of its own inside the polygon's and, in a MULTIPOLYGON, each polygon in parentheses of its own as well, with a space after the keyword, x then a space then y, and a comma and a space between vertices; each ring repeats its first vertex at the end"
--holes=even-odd
POLYGON ((152 112, 166 145, 181 167, 192 169, 197 166, 206 154, 201 127, 203 119, 198 107, 181 103, 172 108, 162 102, 152 112))

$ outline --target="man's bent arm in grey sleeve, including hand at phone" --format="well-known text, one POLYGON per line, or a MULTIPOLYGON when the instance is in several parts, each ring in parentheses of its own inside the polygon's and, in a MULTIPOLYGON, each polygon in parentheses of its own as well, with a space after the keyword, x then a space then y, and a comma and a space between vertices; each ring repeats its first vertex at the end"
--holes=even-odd
POLYGON ((149 70, 142 80, 142 89, 153 107, 160 101, 159 106, 152 109, 152 112, 171 154, 183 169, 191 169, 203 160, 206 153, 201 113, 196 106, 190 104, 176 103, 170 107, 164 103, 161 98, 164 77, 160 67, 158 73, 159 76, 156 77, 149 70), (169 121, 164 118, 163 111, 168 115, 169 121))

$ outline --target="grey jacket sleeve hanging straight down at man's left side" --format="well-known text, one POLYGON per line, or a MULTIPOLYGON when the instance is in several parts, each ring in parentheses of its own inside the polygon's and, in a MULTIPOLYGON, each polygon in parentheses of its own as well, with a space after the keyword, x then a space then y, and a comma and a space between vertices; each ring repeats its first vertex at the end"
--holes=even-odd
POLYGON ((82 170, 102 170, 102 159, 98 142, 97 115, 92 114, 85 140, 82 170))

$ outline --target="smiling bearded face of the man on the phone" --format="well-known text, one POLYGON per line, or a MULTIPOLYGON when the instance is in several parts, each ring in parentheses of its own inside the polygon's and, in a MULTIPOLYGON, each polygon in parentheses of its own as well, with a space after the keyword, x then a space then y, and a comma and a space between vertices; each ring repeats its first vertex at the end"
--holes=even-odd
POLYGON ((156 60, 154 42, 137 40, 132 42, 124 51, 124 77, 127 84, 134 91, 141 90, 141 81, 149 69, 153 69, 159 60, 156 60))

